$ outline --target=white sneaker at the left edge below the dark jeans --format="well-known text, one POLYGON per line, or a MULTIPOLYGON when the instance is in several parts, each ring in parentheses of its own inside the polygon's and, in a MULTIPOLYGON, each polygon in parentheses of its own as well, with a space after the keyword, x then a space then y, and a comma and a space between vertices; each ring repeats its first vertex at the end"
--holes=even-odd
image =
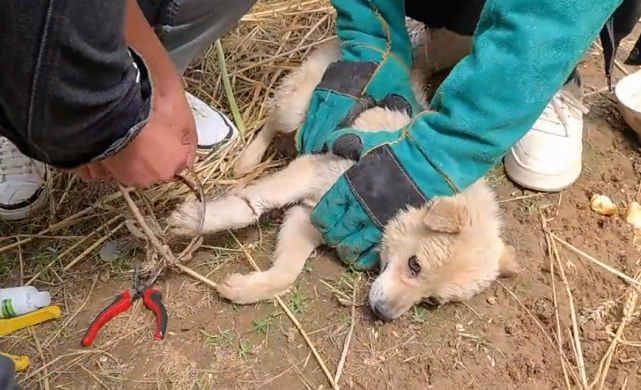
POLYGON ((24 219, 46 204, 46 172, 45 164, 30 159, 0 137, 0 219, 24 219))

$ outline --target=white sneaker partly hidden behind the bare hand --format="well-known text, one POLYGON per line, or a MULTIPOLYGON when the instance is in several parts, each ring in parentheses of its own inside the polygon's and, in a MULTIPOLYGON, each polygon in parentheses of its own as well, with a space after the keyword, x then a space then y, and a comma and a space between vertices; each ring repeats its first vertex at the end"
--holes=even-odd
POLYGON ((223 113, 189 92, 185 94, 196 121, 199 155, 207 155, 216 147, 238 136, 238 129, 223 113))

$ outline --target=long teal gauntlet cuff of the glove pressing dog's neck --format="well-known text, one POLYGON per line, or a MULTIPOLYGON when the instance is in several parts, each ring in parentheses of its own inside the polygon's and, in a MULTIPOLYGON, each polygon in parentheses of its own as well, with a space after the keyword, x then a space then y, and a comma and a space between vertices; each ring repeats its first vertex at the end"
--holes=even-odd
POLYGON ((488 0, 472 53, 437 90, 434 112, 411 127, 424 158, 458 189, 485 175, 530 130, 620 3, 488 0))

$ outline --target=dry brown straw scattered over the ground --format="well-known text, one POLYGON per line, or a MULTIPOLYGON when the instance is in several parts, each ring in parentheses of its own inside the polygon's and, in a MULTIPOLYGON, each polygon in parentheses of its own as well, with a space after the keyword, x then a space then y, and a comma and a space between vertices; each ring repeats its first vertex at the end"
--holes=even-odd
MULTIPOLYGON (((205 102, 230 112, 243 132, 243 139, 218 150, 197 164, 196 171, 200 180, 205 183, 204 190, 208 195, 239 184, 236 180, 230 179, 228 171, 234 162, 234 156, 264 123, 265 100, 280 77, 294 69, 309 50, 332 34, 332 23, 333 11, 327 1, 261 1, 231 34, 221 40, 220 46, 212 47, 200 63, 189 70, 186 80, 190 90, 205 102), (220 52, 225 53, 224 59, 218 55, 220 52), (226 69, 226 72, 221 72, 221 69, 226 69)), ((283 163, 282 159, 272 156, 255 174, 245 180, 258 177, 283 163)), ((3 238, 0 239, 0 277, 15 284, 36 284, 48 289, 65 313, 61 319, 52 323, 7 336, 0 344, 6 352, 28 354, 32 357, 31 367, 20 377, 28 389, 73 388, 69 387, 70 385, 53 384, 70 373, 84 376, 93 383, 91 388, 115 388, 113 383, 122 383, 123 375, 135 370, 128 362, 114 357, 114 351, 123 343, 131 344, 132 348, 147 348, 149 355, 162 356, 164 359, 163 364, 156 368, 156 378, 138 378, 132 381, 132 386, 148 385, 149 388, 177 390, 218 388, 214 386, 213 377, 217 372, 228 369, 236 370, 235 374, 239 377, 252 377, 254 381, 246 382, 252 383, 247 384, 247 388, 257 387, 259 382, 265 385, 275 379, 257 380, 256 374, 249 373, 251 368, 240 368, 236 364, 238 359, 242 360, 247 354, 258 353, 268 348, 267 346, 258 344, 248 347, 241 341, 237 351, 240 357, 232 358, 231 352, 223 348, 223 343, 232 336, 224 330, 215 334, 202 331, 207 346, 215 351, 219 361, 226 362, 219 362, 220 364, 215 368, 212 366, 211 370, 197 369, 188 350, 177 350, 169 344, 149 343, 148 332, 144 333, 149 328, 149 317, 142 315, 144 310, 141 309, 141 305, 137 305, 118 320, 119 324, 126 326, 121 329, 127 331, 106 330, 103 342, 98 347, 67 347, 64 349, 65 353, 61 354, 61 345, 77 343, 80 335, 77 332, 72 333, 69 329, 81 322, 80 317, 83 315, 82 321, 86 323, 88 317, 85 312, 99 287, 114 279, 127 281, 130 277, 130 264, 126 261, 95 266, 95 262, 99 262, 96 253, 101 245, 113 237, 127 235, 126 220, 154 214, 162 221, 162 216, 167 210, 177 200, 188 195, 189 191, 178 183, 157 186, 144 192, 127 191, 109 184, 84 184, 75 177, 60 173, 52 176, 50 186, 52 196, 49 213, 29 222, 4 222, 1 226, 3 238), (96 269, 98 271, 95 271, 96 269), (167 383, 171 383, 171 386, 167 383)), ((557 270, 552 274, 558 277, 557 283, 560 284, 554 286, 554 300, 573 301, 574 297, 567 288, 564 273, 567 263, 559 259, 557 249, 559 245, 569 244, 547 229, 546 223, 551 219, 544 216, 543 212, 541 220, 542 234, 548 246, 550 268, 557 270), (561 294, 561 291, 565 293, 561 294)), ((213 282, 209 278, 215 275, 220 267, 237 259, 246 259, 252 266, 258 266, 253 260, 253 253, 273 238, 274 228, 261 229, 258 237, 251 240, 231 235, 231 238, 217 237, 216 240, 204 244, 197 242, 196 245, 200 249, 208 250, 210 253, 213 251, 218 255, 213 260, 201 259, 196 255, 186 264, 182 263, 180 255, 174 255, 174 252, 164 245, 162 237, 157 238, 149 231, 145 233, 150 241, 146 259, 151 262, 164 261, 168 266, 178 267, 178 271, 185 274, 184 282, 177 287, 180 299, 168 303, 173 318, 185 319, 200 310, 212 307, 213 300, 217 298, 211 293, 210 287, 213 282), (202 267, 205 263, 208 267, 202 267), (199 272, 199 269, 206 271, 199 272)), ((176 250, 175 253, 179 253, 178 251, 186 246, 186 242, 171 245, 172 249, 176 250)), ((577 248, 570 247, 570 250, 579 251, 579 254, 591 263, 601 266, 603 264, 577 248)), ((600 365, 601 369, 594 378, 589 378, 585 373, 581 352, 582 343, 585 341, 578 335, 579 317, 574 308, 571 316, 573 326, 569 330, 562 330, 558 325, 557 313, 556 334, 548 334, 535 319, 547 335, 547 340, 559 351, 568 389, 577 386, 582 389, 604 388, 603 378, 607 374, 612 356, 616 354, 617 344, 634 346, 625 340, 623 331, 625 325, 638 315, 638 287, 634 281, 638 283, 641 280, 639 275, 641 274, 629 277, 630 285, 625 294, 613 297, 587 315, 588 319, 597 319, 603 321, 604 326, 612 326, 613 318, 618 316, 617 313, 613 314, 613 307, 623 305, 624 308, 622 318, 617 321, 616 327, 613 327, 612 347, 608 349, 600 365), (572 340, 571 348, 568 349, 564 338, 572 340), (568 356, 573 358, 569 359, 568 356)), ((289 303, 277 301, 280 309, 286 313, 288 321, 294 324, 288 332, 295 329, 303 335, 306 348, 311 351, 309 359, 315 359, 322 369, 326 378, 326 382, 322 384, 324 388, 337 388, 335 382, 339 382, 341 378, 353 339, 355 308, 360 305, 363 295, 361 293, 361 296, 357 296, 357 286, 362 280, 343 282, 349 288, 345 289, 344 285, 337 287, 326 284, 332 294, 350 307, 349 321, 341 328, 343 338, 339 342, 340 359, 335 366, 330 366, 324 361, 323 353, 317 351, 307 337, 305 329, 296 318, 300 313, 292 303, 293 300, 289 303)), ((514 293, 509 293, 520 302, 514 293)), ((528 311, 525 307, 523 309, 528 311)), ((288 340, 290 336, 291 333, 288 334, 288 340)), ((294 357, 287 360, 292 363, 290 369, 298 373, 301 387, 311 388, 312 385, 308 384, 310 380, 300 371, 300 362, 295 361, 294 357)))

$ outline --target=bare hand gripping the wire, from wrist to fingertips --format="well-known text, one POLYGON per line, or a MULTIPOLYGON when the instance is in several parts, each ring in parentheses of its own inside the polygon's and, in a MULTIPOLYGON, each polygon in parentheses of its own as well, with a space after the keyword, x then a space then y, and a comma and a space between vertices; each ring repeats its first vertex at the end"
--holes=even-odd
POLYGON ((113 178, 127 186, 147 187, 173 180, 193 163, 197 146, 194 117, 177 84, 156 93, 149 122, 122 151, 74 172, 84 180, 113 178))

